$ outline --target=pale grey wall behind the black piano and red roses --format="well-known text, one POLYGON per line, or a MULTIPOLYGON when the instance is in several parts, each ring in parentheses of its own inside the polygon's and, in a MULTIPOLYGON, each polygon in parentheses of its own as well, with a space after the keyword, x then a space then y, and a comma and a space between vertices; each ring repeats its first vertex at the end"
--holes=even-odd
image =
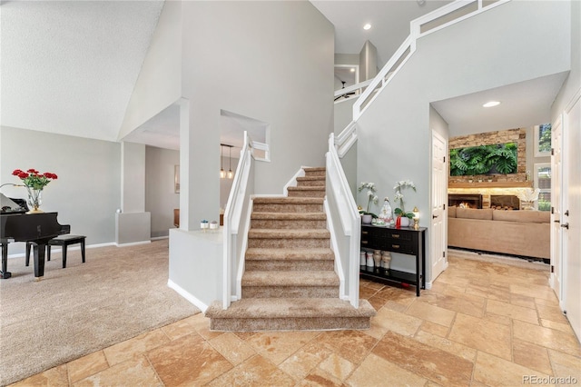
MULTIPOLYGON (((58 179, 43 191, 44 212, 58 212, 58 222, 71 233, 87 236, 87 244, 113 243, 115 210, 121 203, 121 145, 64 134, 48 134, 2 126, 1 183, 20 183, 15 169, 52 172, 58 179)), ((2 192, 26 197, 24 188, 2 192)), ((24 253, 24 243, 11 243, 9 254, 24 253)))

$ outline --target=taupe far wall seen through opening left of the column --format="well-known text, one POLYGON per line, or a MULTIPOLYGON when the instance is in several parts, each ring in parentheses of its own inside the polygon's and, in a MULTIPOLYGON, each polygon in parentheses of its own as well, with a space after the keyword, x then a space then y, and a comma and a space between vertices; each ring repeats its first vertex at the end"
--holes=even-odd
POLYGON ((180 153, 169 149, 145 148, 145 211, 152 213, 152 237, 168 236, 173 226, 173 209, 180 208, 173 176, 180 153))

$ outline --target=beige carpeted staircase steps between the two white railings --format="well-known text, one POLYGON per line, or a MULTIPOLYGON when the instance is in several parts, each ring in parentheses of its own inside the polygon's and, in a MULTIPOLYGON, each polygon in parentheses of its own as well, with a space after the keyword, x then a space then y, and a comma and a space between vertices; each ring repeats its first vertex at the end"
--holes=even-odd
POLYGON ((323 209, 325 168, 304 168, 286 197, 253 200, 241 300, 206 310, 214 331, 369 329, 375 310, 340 300, 323 209))

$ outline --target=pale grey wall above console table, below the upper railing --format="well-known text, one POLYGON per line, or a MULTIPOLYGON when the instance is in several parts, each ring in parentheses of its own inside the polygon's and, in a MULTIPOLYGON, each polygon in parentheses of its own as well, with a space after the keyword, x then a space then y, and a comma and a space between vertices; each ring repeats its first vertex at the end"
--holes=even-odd
MULTIPOLYGON (((404 193, 406 209, 430 213, 429 103, 566 71, 569 7, 509 2, 419 39, 415 54, 359 118, 358 181, 374 182, 379 197, 392 197, 394 184, 410 179, 418 191, 404 193), (539 28, 547 20, 559 28, 539 28)), ((428 219, 420 225, 428 227, 428 219)))

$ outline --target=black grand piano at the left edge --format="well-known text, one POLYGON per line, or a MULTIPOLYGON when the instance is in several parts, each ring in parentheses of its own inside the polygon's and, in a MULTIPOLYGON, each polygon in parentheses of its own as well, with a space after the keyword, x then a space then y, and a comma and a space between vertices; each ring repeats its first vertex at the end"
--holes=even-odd
POLYGON ((46 243, 55 236, 70 233, 69 224, 59 224, 56 221, 58 213, 25 213, 26 203, 17 199, 8 199, 14 205, 5 205, 6 197, 2 195, 2 211, 0 212, 0 244, 2 244, 2 272, 0 278, 12 276, 7 271, 8 243, 31 242, 34 250, 34 280, 44 276, 44 252, 46 243), (18 203, 15 203, 15 200, 18 203))

